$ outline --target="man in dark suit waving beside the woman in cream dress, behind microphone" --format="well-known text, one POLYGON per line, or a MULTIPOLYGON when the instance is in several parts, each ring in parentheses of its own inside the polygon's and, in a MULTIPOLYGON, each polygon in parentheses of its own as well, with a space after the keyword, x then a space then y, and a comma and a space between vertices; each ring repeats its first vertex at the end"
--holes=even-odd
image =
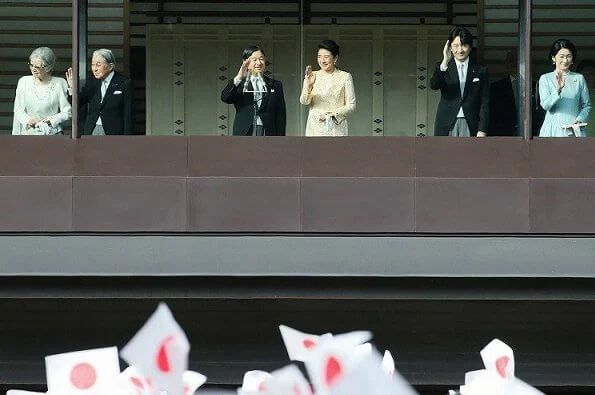
POLYGON ((234 136, 285 136, 283 85, 263 74, 264 50, 248 47, 242 59, 238 74, 221 92, 221 100, 236 109, 234 136))

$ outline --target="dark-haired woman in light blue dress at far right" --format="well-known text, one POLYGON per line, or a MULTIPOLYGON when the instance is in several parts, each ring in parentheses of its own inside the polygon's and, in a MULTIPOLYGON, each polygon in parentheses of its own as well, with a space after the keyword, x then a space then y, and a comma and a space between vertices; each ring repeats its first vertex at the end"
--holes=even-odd
POLYGON ((539 137, 585 137, 584 128, 562 126, 588 122, 591 112, 589 88, 585 78, 570 71, 576 47, 569 40, 556 40, 550 50, 555 70, 539 78, 539 100, 546 111, 539 137))

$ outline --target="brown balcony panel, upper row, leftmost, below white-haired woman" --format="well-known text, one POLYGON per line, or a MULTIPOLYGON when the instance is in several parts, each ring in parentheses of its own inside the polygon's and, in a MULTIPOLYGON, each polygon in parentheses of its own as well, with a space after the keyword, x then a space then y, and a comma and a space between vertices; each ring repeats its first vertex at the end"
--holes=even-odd
POLYGON ((0 136, 0 174, 70 176, 74 143, 66 136, 0 136))

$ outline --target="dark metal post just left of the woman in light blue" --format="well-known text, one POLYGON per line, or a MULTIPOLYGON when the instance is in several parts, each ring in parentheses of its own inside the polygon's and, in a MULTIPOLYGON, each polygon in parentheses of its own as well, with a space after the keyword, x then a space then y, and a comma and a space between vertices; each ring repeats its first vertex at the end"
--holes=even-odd
POLYGON ((517 103, 518 124, 523 128, 525 140, 531 139, 532 107, 531 89, 531 13, 532 0, 519 0, 519 100, 517 103))

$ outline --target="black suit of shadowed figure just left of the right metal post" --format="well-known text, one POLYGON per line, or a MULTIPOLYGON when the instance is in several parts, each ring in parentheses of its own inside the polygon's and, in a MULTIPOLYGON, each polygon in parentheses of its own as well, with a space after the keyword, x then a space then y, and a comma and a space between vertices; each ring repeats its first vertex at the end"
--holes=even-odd
POLYGON ((490 85, 490 136, 518 136, 516 101, 510 77, 490 85))

